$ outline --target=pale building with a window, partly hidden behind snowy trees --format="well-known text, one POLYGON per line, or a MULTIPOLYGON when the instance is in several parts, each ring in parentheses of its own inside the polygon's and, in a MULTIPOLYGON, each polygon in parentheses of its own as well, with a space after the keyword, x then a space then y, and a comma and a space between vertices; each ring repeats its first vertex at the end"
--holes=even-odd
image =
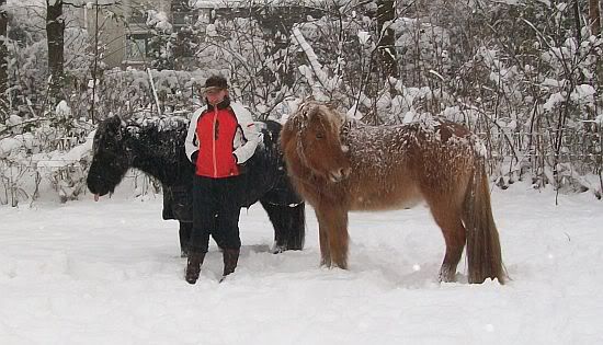
POLYGON ((323 10, 316 5, 306 7, 304 0, 98 0, 98 5, 89 2, 81 10, 83 26, 90 37, 99 32, 99 41, 104 45, 103 62, 109 68, 124 69, 150 67, 152 50, 157 49, 153 46, 157 28, 164 28, 164 25, 169 25, 170 33, 175 35, 173 53, 179 64, 174 69, 181 69, 190 66, 193 58, 184 42, 191 35, 186 31, 191 25, 195 25, 197 32, 204 32, 203 25, 217 18, 253 16, 264 27, 265 34, 276 35, 284 26, 291 28, 296 22, 321 14, 323 10), (158 24, 158 21, 166 23, 158 24))

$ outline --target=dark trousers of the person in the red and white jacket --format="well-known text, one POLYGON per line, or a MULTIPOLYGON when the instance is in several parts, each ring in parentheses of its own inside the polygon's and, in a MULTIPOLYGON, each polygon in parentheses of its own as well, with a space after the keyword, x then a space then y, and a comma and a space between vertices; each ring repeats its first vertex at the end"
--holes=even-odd
POLYGON ((209 235, 220 249, 240 249, 239 214, 242 176, 193 181, 193 231, 189 251, 207 252, 209 235))

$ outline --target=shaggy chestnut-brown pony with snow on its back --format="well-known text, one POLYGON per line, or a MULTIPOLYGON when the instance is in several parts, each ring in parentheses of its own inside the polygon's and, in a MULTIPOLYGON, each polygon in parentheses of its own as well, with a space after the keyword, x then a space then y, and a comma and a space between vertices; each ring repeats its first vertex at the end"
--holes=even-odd
POLYGON ((485 148, 466 127, 433 117, 365 126, 307 101, 287 119, 281 146, 297 192, 315 208, 322 265, 346 268, 350 210, 424 200, 446 243, 440 279, 454 281, 466 244, 469 283, 504 283, 485 148))

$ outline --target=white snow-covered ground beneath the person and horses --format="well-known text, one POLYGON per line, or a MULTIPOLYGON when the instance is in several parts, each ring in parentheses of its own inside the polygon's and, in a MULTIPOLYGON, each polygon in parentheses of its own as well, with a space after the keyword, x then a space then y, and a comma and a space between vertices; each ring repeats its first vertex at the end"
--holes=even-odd
POLYGON ((160 197, 0 207, 0 344, 603 344, 602 203, 555 206, 527 185, 492 197, 505 286, 436 283, 444 243, 424 207, 352 214, 341 271, 318 266, 311 209, 306 250, 274 255, 254 206, 237 272, 217 283, 212 243, 194 286, 160 197))

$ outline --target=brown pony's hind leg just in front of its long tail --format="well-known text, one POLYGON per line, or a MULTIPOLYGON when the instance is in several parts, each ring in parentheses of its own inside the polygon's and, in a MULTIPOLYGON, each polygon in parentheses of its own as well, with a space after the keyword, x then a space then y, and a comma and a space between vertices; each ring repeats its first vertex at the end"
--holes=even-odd
MULTIPOLYGON (((446 198, 441 198, 445 200, 446 198)), ((463 226, 460 212, 455 210, 454 203, 430 203, 431 214, 442 229, 446 242, 446 254, 440 268, 440 281, 455 281, 456 266, 465 248, 466 230, 463 226)))

